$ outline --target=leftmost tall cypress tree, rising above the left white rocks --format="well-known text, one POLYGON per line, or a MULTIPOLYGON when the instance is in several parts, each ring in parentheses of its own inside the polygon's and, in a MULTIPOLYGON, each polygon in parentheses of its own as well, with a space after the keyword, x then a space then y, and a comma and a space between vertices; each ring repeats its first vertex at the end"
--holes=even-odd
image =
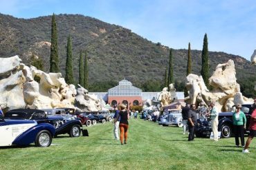
POLYGON ((50 72, 60 72, 59 56, 58 56, 58 50, 57 50, 57 25, 55 22, 54 13, 52 16, 52 26, 51 26, 50 72))

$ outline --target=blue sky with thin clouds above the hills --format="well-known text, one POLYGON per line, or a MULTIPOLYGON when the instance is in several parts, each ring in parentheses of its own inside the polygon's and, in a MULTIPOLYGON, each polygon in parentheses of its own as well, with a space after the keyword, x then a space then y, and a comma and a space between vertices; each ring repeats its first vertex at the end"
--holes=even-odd
POLYGON ((255 0, 0 0, 0 13, 30 19, 83 14, 120 25, 174 49, 226 52, 250 60, 256 50, 255 0))

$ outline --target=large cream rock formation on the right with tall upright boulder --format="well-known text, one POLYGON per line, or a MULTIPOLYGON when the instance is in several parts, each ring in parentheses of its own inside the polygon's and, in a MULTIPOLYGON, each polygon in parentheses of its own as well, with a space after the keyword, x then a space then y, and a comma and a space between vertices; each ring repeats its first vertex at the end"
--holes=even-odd
POLYGON ((189 90, 189 102, 210 103, 216 101, 221 111, 229 111, 234 104, 253 103, 252 98, 242 96, 240 86, 237 83, 235 64, 232 60, 217 65, 214 73, 209 78, 209 84, 213 87, 209 92, 202 76, 189 74, 186 78, 186 87, 189 90))

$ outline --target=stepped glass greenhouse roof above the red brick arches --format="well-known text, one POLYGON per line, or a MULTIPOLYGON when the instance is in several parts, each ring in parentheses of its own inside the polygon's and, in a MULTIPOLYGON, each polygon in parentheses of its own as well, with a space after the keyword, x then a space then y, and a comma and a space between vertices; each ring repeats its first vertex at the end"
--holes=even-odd
POLYGON ((122 80, 119 85, 109 89, 109 96, 141 96, 142 90, 134 87, 131 82, 122 80))

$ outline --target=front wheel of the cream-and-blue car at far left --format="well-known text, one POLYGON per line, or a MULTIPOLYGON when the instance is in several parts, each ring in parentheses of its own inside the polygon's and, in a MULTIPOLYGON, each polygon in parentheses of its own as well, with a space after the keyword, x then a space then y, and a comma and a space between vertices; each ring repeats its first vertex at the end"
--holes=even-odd
POLYGON ((35 138, 35 145, 37 147, 48 147, 51 145, 53 137, 48 130, 39 131, 35 138))

